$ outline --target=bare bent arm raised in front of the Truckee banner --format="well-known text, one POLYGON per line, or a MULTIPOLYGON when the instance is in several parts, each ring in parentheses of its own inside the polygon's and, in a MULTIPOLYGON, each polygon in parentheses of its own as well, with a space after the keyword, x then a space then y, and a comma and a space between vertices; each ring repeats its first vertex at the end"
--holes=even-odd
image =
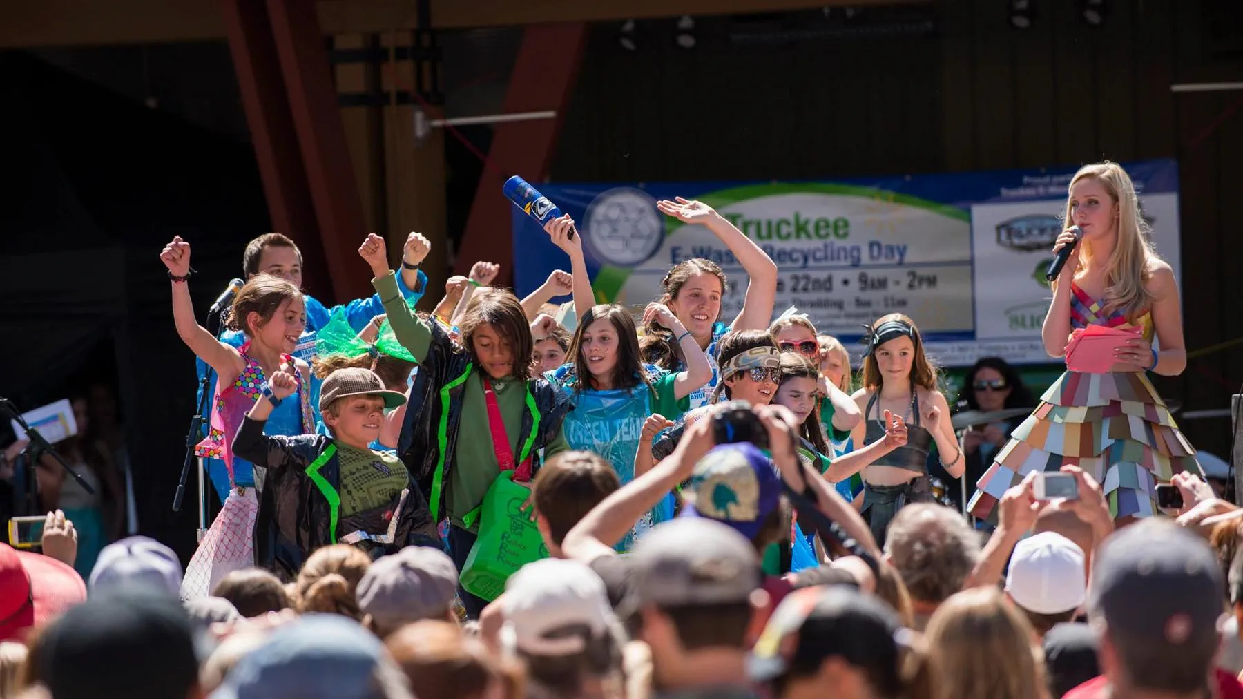
POLYGON ((759 249, 728 219, 716 213, 716 209, 702 201, 692 201, 676 197, 674 201, 663 200, 656 208, 682 223, 702 224, 721 239, 747 272, 747 295, 742 300, 742 311, 733 318, 733 330, 767 328, 773 317, 773 303, 777 301, 777 264, 759 249))

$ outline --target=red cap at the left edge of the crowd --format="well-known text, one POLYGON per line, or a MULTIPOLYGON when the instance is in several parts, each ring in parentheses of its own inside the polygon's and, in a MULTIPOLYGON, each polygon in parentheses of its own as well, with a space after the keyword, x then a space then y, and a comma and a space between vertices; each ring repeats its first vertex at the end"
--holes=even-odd
POLYGON ((22 641, 26 629, 85 601, 86 583, 73 568, 0 544, 0 641, 22 641))

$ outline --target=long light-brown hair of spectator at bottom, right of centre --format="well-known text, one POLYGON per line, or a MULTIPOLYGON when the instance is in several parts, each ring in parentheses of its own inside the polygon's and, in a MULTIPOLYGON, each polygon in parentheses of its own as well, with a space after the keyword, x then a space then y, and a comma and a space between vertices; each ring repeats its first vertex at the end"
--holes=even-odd
POLYGON ((996 587, 953 595, 929 619, 935 699, 1045 699, 1044 652, 996 587))

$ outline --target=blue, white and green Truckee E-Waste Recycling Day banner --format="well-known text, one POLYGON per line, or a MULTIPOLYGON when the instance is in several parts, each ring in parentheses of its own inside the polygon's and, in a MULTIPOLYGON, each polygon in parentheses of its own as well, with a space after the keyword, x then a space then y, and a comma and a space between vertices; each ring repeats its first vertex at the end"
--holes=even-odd
MULTIPOLYGON (((1156 248, 1178 272, 1178 167, 1124 163, 1156 248)), ((856 350, 863 325, 891 312, 915 320, 942 366, 982 356, 1045 363, 1044 270, 1063 230, 1075 168, 906 175, 833 182, 541 184, 583 236, 598 302, 638 313, 660 296, 671 265, 720 264, 728 277, 721 317, 742 307, 747 276, 707 228, 663 215, 684 197, 713 206, 779 269, 774 313, 794 306, 856 350)), ((539 286, 569 260, 513 210, 515 286, 539 286)), ((855 352, 858 357, 858 353, 855 352)))

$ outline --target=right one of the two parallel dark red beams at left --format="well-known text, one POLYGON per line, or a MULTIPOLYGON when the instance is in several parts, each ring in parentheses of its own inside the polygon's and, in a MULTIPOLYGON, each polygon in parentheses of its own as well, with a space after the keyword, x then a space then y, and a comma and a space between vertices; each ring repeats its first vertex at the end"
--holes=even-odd
POLYGON ((370 296, 370 274, 358 259, 358 245, 367 234, 363 203, 337 106, 323 31, 310 2, 267 0, 267 11, 306 164, 319 240, 336 292, 333 299, 370 296))

